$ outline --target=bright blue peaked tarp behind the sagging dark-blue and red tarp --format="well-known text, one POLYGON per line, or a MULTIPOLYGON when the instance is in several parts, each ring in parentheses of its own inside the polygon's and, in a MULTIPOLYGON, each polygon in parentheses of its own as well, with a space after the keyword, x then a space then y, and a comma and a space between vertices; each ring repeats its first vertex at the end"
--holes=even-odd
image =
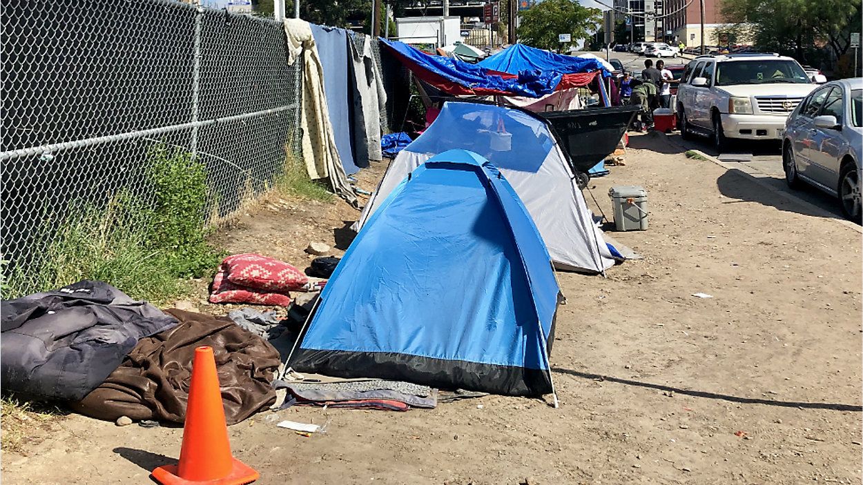
POLYGON ((599 60, 554 54, 524 44, 514 44, 507 47, 501 52, 481 60, 477 66, 512 74, 525 71, 556 72, 557 74, 602 71, 602 76, 608 77, 610 75, 610 72, 602 67, 602 62, 599 60))

